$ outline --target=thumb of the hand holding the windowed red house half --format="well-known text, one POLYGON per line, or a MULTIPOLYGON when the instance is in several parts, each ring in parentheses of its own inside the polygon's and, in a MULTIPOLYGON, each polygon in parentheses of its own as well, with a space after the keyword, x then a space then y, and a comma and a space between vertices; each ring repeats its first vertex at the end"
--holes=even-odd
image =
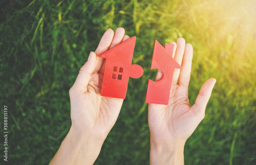
POLYGON ((88 57, 88 61, 79 70, 77 79, 74 82, 74 85, 71 87, 72 89, 82 93, 87 92, 87 85, 91 79, 91 74, 96 67, 96 62, 96 54, 91 52, 88 57))

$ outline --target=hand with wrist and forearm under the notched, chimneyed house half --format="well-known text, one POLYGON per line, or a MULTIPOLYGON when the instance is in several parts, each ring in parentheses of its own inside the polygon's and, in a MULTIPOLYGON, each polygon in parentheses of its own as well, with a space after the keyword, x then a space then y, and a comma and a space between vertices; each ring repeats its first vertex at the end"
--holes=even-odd
MULTIPOLYGON (((205 116, 205 108, 216 79, 208 79, 201 87, 193 106, 188 101, 188 85, 191 73, 193 48, 185 45, 185 40, 179 38, 174 44, 173 58, 183 67, 175 69, 168 105, 149 104, 148 123, 150 125, 150 164, 155 164, 161 155, 168 153, 168 158, 162 157, 159 162, 184 164, 183 150, 188 137, 205 116), (155 123, 156 124, 155 124, 155 123), (191 131, 192 130, 192 131, 191 131), (179 156, 179 162, 172 155, 179 156), (164 159, 165 158, 165 159, 164 159)), ((161 79, 163 72, 158 69, 156 80, 161 79)), ((163 163, 166 164, 166 163, 163 163)))

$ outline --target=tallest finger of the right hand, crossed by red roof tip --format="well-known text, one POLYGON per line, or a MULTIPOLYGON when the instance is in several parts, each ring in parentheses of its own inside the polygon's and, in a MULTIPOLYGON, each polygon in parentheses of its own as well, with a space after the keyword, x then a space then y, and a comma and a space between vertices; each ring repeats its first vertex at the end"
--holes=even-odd
MULTIPOLYGON (((176 52, 175 52, 174 60, 179 65, 181 65, 181 63, 182 63, 182 58, 183 58, 184 51, 185 51, 185 44, 186 44, 186 42, 185 42, 184 38, 178 38, 178 40, 177 40, 177 49, 176 49, 176 52)), ((172 82, 173 85, 177 84, 178 78, 179 78, 179 73, 180 73, 180 69, 175 68, 174 73, 173 73, 173 82, 172 82)))

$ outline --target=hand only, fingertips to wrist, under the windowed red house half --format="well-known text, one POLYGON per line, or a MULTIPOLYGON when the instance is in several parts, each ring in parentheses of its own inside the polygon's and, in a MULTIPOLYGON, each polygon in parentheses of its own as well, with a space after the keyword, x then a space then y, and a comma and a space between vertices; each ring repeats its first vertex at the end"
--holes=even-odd
POLYGON ((116 29, 115 33, 108 29, 104 33, 69 91, 72 127, 103 141, 118 118, 123 99, 100 96, 105 60, 98 56, 129 39, 124 33, 123 28, 116 29))

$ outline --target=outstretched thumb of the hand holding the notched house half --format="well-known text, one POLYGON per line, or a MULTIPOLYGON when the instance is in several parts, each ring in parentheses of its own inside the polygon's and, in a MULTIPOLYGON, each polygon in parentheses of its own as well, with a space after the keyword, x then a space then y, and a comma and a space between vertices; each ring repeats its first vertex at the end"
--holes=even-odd
POLYGON ((215 78, 210 78, 205 81, 205 83, 202 85, 199 94, 196 98, 195 104, 191 107, 191 109, 196 114, 204 114, 206 105, 211 97, 211 91, 214 87, 214 84, 216 83, 215 78))

